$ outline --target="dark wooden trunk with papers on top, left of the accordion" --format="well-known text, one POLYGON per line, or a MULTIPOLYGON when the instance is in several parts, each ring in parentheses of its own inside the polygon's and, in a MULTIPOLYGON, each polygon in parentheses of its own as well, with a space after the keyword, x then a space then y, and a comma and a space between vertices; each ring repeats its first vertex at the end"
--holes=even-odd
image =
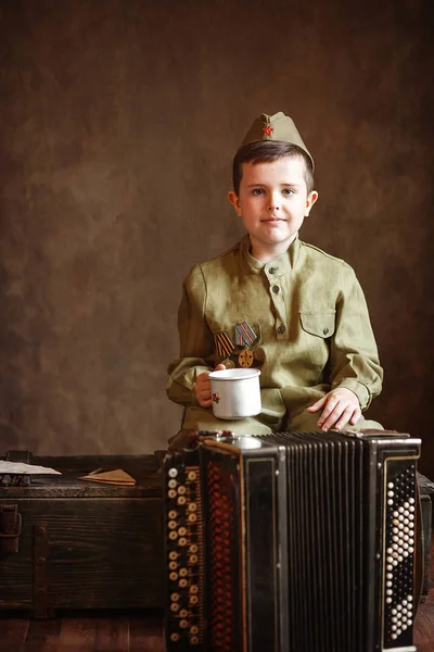
POLYGON ((24 487, 0 485, 3 530, 14 505, 15 531, 21 528, 16 539, 0 537, 0 610, 27 609, 35 617, 47 617, 56 609, 162 607, 162 474, 156 457, 34 457, 33 464, 62 476, 33 476, 24 487), (97 468, 122 468, 137 485, 77 479, 97 468))

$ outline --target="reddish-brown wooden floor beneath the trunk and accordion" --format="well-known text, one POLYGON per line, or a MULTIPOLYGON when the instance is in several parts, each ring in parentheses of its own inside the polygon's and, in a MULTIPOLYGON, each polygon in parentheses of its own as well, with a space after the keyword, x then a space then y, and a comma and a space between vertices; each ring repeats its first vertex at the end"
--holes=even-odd
MULTIPOLYGON (((414 644, 418 652, 434 652, 434 588, 419 606, 414 644)), ((164 652, 163 614, 108 616, 81 613, 52 620, 29 620, 21 614, 3 612, 0 617, 0 651, 164 652)))

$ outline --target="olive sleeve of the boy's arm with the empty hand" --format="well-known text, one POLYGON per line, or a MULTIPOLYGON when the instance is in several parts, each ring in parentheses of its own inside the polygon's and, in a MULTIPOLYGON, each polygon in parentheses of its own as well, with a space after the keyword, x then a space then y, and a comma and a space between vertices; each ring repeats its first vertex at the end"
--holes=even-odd
POLYGON ((383 369, 366 299, 354 271, 343 266, 336 325, 330 350, 332 389, 346 387, 355 392, 362 410, 381 392, 383 369))

